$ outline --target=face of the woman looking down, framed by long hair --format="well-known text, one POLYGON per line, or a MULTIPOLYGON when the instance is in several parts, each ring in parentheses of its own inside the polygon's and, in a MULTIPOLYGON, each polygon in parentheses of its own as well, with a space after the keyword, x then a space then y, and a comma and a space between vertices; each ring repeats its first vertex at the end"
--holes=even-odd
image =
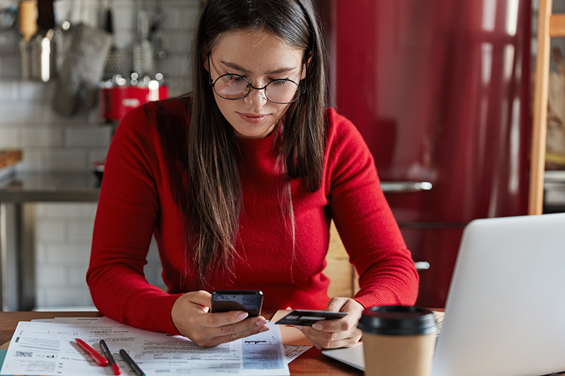
MULTIPOLYGON (((213 81, 226 73, 242 75, 254 87, 264 87, 279 78, 299 83, 305 75, 303 53, 263 30, 231 31, 220 37, 210 54, 210 75, 213 81)), ((208 68, 208 60, 205 67, 208 68)), ((246 97, 237 100, 224 99, 217 94, 214 97, 240 138, 268 136, 289 107, 289 104, 271 102, 265 90, 251 89, 246 97)))

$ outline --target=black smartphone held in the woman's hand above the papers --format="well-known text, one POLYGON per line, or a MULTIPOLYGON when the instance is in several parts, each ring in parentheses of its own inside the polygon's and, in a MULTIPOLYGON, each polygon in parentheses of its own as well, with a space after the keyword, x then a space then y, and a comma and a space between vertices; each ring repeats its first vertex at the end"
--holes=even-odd
POLYGON ((258 290, 216 290, 212 293, 212 309, 210 312, 228 312, 242 310, 249 317, 261 315, 263 293, 258 290))

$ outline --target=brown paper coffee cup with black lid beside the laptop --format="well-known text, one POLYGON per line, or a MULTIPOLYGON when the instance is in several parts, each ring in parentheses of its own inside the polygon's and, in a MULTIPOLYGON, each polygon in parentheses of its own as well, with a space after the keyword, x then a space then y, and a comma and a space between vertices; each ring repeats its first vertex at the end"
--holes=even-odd
POLYGON ((437 322, 431 310, 403 305, 371 307, 359 320, 365 375, 429 376, 437 322))

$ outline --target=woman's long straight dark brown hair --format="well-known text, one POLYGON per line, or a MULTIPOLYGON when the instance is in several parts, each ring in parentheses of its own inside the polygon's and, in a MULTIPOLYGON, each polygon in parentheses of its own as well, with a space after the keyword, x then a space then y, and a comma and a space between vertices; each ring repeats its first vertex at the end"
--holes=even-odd
MULTIPOLYGON (((198 285, 214 272, 232 269, 239 229, 242 188, 238 146, 232 126, 215 104, 204 59, 232 30, 264 30, 304 51, 306 89, 290 104, 280 124, 278 153, 283 177, 302 178, 309 192, 321 186, 325 132, 326 75, 319 20, 311 0, 207 0, 196 29, 192 61, 193 92, 187 130, 189 178, 187 257, 198 285)), ((289 190, 290 192, 290 190, 289 190)), ((289 193, 290 194, 290 193, 289 193)), ((292 214, 292 198, 290 198, 292 214)), ((292 219, 294 227, 294 219, 292 219)))

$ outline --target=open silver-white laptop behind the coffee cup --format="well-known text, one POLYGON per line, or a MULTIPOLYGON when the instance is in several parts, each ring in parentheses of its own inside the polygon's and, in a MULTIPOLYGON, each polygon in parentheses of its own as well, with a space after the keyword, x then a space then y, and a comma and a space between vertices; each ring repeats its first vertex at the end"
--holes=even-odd
POLYGON ((565 213, 476 219, 465 227, 432 376, 565 371, 564 230, 565 213))

